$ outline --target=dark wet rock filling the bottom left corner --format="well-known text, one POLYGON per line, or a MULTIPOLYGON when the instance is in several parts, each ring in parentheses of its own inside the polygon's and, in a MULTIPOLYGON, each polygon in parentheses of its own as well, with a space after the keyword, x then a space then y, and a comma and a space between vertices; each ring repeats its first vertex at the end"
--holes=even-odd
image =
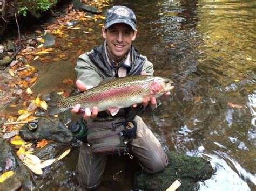
POLYGON ((22 187, 23 190, 35 190, 32 175, 22 162, 17 158, 15 152, 0 138, 0 173, 14 171, 3 183, 0 183, 0 190, 17 190, 22 187))

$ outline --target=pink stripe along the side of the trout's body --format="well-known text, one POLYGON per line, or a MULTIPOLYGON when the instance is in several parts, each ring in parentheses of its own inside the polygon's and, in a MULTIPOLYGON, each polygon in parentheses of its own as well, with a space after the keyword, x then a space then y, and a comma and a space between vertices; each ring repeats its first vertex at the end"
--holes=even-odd
POLYGON ((131 86, 131 87, 125 87, 125 88, 118 88, 118 89, 110 89, 109 91, 106 91, 102 94, 95 95, 94 97, 87 98, 87 102, 93 102, 98 100, 104 100, 104 98, 109 98, 113 96, 120 96, 122 94, 129 94, 134 90, 142 89, 142 86, 131 86))

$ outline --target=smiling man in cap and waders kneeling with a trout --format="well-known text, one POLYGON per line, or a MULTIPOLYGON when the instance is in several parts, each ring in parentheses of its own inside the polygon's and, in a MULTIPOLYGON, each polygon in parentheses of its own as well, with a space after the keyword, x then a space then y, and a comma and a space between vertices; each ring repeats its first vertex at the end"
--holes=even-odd
MULTIPOLYGON (((108 77, 124 77, 130 75, 153 75, 153 65, 145 56, 138 55, 131 45, 137 35, 136 16, 125 6, 113 6, 106 13, 105 26, 102 27, 104 43, 90 52, 79 56, 76 66, 77 87, 80 91, 98 86, 100 81, 108 77)), ((170 92, 165 93, 165 96, 170 92)), ((156 97, 150 104, 156 105, 156 97)), ((148 105, 144 100, 140 105, 133 105, 127 110, 140 111, 148 105)), ((72 113, 79 112, 78 104, 72 113)), ((125 116, 125 109, 120 110, 117 117, 125 116)), ((93 124, 107 123, 114 120, 107 111, 99 112, 85 108, 84 119, 93 124), (100 121, 98 121, 100 118, 100 121)), ((133 116, 137 125, 136 136, 128 139, 129 153, 136 157, 146 173, 162 171, 167 165, 167 156, 158 139, 153 135, 139 116, 133 116)), ((82 143, 78 160, 78 180, 85 188, 99 186, 106 166, 107 155, 95 154, 91 147, 82 143)))

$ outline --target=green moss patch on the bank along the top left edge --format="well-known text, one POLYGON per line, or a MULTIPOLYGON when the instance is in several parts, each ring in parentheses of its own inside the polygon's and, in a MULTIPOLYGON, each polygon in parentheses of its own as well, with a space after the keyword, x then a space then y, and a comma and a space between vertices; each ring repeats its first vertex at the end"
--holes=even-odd
POLYGON ((18 14, 26 17, 28 13, 35 18, 41 17, 43 12, 49 11, 55 7, 58 0, 20 0, 18 5, 18 14))

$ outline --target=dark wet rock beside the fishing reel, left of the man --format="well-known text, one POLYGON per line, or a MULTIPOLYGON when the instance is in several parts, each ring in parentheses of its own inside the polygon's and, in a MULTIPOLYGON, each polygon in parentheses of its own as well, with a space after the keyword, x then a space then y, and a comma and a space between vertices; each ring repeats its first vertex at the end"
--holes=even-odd
MULTIPOLYGON (((28 130, 25 124, 21 130, 28 130)), ((19 131, 25 140, 54 140, 59 143, 71 143, 75 140, 68 128, 58 119, 42 117, 38 119, 37 128, 33 131, 19 131)))

